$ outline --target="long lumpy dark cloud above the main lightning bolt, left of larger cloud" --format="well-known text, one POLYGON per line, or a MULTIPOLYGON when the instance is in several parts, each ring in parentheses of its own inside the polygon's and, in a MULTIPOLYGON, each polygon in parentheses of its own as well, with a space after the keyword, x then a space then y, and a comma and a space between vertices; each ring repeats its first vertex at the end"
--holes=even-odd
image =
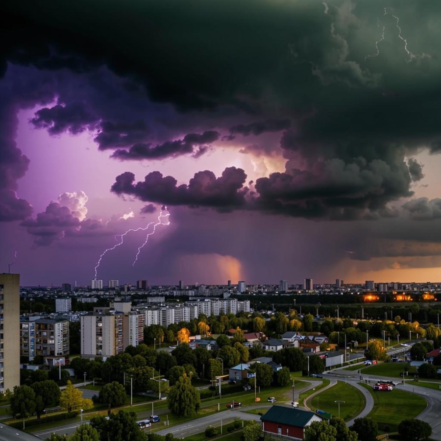
POLYGON ((111 191, 143 201, 228 211, 245 206, 245 179, 245 172, 235 167, 225 169, 218 178, 208 170, 197 172, 188 185, 179 186, 175 178, 164 177, 160 172, 151 172, 143 182, 136 183, 135 175, 125 172, 117 176, 111 191))

